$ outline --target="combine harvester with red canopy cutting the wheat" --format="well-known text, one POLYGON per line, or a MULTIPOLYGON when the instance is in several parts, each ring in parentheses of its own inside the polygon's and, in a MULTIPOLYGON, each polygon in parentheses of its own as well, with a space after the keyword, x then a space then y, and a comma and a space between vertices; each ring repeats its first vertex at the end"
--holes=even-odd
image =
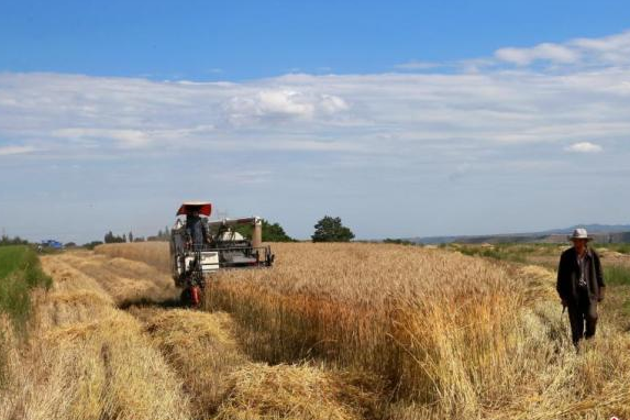
POLYGON ((219 270, 263 268, 274 264, 270 247, 262 244, 261 218, 210 221, 211 212, 210 202, 184 202, 176 215, 185 219, 178 218, 170 231, 172 274, 175 285, 183 289, 181 302, 185 306, 199 306, 206 283, 219 270), (203 231, 202 241, 194 237, 196 233, 191 229, 197 218, 203 231), (252 226, 251 240, 235 231, 242 225, 252 226))

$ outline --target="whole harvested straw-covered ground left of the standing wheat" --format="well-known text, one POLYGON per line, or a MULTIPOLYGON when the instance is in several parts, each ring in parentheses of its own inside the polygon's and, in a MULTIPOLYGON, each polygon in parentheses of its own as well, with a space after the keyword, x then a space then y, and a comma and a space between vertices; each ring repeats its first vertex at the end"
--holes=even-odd
POLYGON ((9 355, 14 391, 0 393, 0 419, 360 420, 375 404, 320 367, 252 363, 225 313, 147 303, 162 295, 146 276, 157 288, 164 276, 144 264, 77 253, 44 268, 53 290, 37 297, 29 354, 9 355), (117 308, 136 297, 142 306, 117 308))

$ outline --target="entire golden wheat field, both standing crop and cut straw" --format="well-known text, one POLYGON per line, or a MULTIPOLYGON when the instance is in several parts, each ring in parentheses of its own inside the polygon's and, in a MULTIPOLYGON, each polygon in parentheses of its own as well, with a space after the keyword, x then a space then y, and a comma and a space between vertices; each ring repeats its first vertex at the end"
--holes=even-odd
POLYGON ((576 354, 554 274, 457 252, 273 244, 174 307, 165 243, 43 258, 0 419, 630 418, 630 338, 576 354))

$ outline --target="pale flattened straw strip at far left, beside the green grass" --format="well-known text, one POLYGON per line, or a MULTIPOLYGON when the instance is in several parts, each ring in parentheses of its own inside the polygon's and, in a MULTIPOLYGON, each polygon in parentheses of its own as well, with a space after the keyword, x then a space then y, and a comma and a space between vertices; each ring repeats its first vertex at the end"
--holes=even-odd
POLYGON ((12 364, 2 418, 188 419, 175 373, 92 278, 44 257, 53 291, 37 297, 30 350, 12 364))

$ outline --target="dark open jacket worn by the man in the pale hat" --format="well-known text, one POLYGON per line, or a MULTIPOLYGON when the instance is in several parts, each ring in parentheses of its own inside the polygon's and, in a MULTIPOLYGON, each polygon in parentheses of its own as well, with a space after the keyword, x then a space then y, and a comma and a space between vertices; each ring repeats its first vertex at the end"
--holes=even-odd
MULTIPOLYGON (((588 300, 592 302, 604 299, 604 274, 599 255, 590 247, 586 251, 586 269, 589 270, 588 280, 588 300)), ((577 263, 577 252, 575 247, 568 248, 562 253, 560 265, 557 267, 556 290, 560 298, 567 305, 578 303, 578 281, 581 277, 579 264, 577 263)))

